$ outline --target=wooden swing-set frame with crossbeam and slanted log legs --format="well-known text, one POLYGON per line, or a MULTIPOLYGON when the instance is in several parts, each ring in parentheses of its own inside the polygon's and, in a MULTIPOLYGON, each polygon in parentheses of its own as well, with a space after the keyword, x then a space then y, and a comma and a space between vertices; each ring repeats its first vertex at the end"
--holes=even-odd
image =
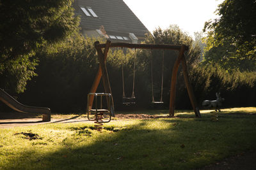
MULTIPOLYGON (((188 67, 186 64, 186 58, 184 57, 184 52, 188 50, 188 46, 186 45, 156 45, 156 44, 129 44, 129 43, 111 43, 111 41, 107 40, 105 44, 100 44, 99 41, 96 41, 94 43, 94 46, 98 53, 98 59, 100 62, 98 72, 95 76, 95 80, 93 81, 92 89, 90 90, 90 93, 95 93, 97 90, 97 87, 99 86, 100 78, 102 77, 104 90, 106 93, 111 94, 111 87, 109 85, 109 78, 108 78, 108 71, 106 68, 106 58, 108 56, 108 51, 110 47, 116 48, 144 48, 144 49, 162 49, 162 50, 177 50, 179 52, 179 55, 175 61, 175 64, 173 66, 172 71, 172 83, 171 83, 171 89, 170 89, 170 106, 169 106, 169 113, 170 117, 174 116, 174 109, 175 109, 175 91, 176 91, 176 81, 177 81, 177 73, 179 69, 180 62, 182 64, 182 73, 184 75, 184 80, 186 83, 186 87, 189 94, 189 99, 191 101, 191 105, 193 106, 193 110, 195 112, 196 117, 201 117, 200 111, 198 109, 198 106, 196 104, 195 95, 191 86, 191 83, 189 81, 188 77, 188 67), (104 48, 104 52, 102 52, 102 48, 104 48)), ((113 96, 112 98, 112 110, 114 109, 114 101, 113 96)), ((88 97, 88 109, 92 109, 93 104, 93 96, 88 97)), ((112 113, 113 116, 113 113, 112 113)))

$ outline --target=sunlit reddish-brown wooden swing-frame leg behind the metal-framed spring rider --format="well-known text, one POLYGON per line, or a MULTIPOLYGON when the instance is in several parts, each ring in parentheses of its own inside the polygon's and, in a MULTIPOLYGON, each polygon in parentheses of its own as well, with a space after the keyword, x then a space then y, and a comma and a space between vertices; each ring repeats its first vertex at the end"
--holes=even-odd
MULTIPOLYGON (((96 45, 96 44, 99 44, 99 41, 95 42, 95 45, 96 45)), ((111 41, 108 40, 107 43, 106 43, 105 49, 104 49, 104 62, 105 62, 106 59, 107 59, 107 55, 108 55, 108 51, 109 51, 109 46, 110 46, 110 44, 111 44, 111 41)), ((99 54, 98 54, 98 55, 99 55, 99 54)), ((95 76, 95 79, 94 79, 94 81, 93 81, 93 84, 92 84, 92 88, 91 88, 91 90, 90 90, 90 93, 95 93, 95 92, 96 92, 96 90, 97 90, 97 88, 98 88, 98 86, 99 86, 99 83, 100 83, 101 76, 102 76, 102 69, 101 69, 101 67, 100 67, 100 65, 99 65, 99 69, 98 69, 97 74, 96 74, 96 76, 95 76)), ((91 110, 91 109, 92 109, 93 98, 94 98, 93 95, 91 95, 91 96, 89 97, 88 108, 87 108, 88 110, 91 110)))

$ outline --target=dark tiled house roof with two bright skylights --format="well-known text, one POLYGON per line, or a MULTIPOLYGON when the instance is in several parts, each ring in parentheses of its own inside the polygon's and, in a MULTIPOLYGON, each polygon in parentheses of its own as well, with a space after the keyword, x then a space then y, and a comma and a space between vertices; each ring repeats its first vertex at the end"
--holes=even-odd
MULTIPOLYGON (((130 32, 144 38, 148 29, 122 0, 76 0, 76 15, 81 16, 81 27, 85 30, 100 29, 103 25, 108 35, 127 36, 130 32), (92 9, 97 17, 86 16, 81 7, 92 9)), ((90 12, 90 11, 88 11, 90 12)))

